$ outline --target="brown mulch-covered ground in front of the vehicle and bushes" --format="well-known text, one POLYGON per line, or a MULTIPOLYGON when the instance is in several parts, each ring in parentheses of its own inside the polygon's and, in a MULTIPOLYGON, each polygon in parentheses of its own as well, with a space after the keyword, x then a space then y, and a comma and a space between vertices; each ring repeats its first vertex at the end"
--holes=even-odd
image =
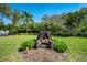
POLYGON ((63 62, 69 61, 69 52, 57 53, 54 50, 37 48, 29 50, 20 53, 22 58, 28 62, 63 62))

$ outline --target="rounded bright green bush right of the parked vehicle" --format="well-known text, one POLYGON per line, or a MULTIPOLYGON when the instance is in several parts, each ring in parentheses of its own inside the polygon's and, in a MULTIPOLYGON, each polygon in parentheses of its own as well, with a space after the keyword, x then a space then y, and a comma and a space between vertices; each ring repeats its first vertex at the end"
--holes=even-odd
POLYGON ((54 43, 54 50, 64 53, 67 50, 67 45, 64 42, 54 43))

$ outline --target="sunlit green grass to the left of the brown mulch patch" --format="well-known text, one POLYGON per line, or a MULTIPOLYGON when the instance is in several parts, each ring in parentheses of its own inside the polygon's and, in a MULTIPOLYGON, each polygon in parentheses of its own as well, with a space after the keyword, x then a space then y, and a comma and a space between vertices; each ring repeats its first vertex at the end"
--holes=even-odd
POLYGON ((34 35, 0 36, 0 61, 23 61, 18 50, 24 41, 34 37, 34 35))

